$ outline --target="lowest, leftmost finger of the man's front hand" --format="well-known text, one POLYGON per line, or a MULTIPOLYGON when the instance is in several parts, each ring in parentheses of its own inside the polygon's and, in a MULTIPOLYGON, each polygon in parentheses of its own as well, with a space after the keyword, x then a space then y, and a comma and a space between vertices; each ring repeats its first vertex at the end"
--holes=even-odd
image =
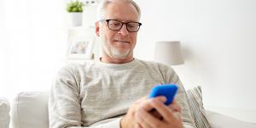
POLYGON ((148 112, 143 109, 139 109, 137 111, 137 113, 135 114, 135 118, 138 121, 138 123, 143 126, 143 128, 159 128, 162 127, 163 124, 163 122, 156 119, 151 114, 148 114, 148 112))

